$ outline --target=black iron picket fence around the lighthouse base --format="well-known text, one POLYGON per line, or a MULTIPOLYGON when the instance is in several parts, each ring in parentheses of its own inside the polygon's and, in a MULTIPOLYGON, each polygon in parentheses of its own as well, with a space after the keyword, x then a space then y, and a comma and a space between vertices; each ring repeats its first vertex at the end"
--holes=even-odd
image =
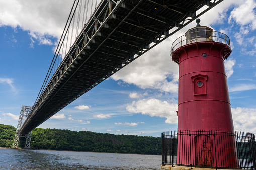
POLYGON ((238 131, 163 132, 162 165, 256 169, 255 135, 238 131))

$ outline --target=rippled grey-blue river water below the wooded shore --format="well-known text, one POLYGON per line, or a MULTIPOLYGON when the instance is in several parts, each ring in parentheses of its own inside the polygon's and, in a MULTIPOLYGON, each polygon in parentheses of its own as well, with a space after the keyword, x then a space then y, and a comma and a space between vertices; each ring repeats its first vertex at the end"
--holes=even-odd
POLYGON ((0 169, 160 169, 161 156, 0 149, 0 169))

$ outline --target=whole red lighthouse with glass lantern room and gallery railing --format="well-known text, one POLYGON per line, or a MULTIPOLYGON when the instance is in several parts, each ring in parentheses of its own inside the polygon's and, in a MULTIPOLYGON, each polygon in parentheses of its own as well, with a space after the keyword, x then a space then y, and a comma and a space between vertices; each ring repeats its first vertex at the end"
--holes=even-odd
POLYGON ((177 164, 217 167, 215 159, 225 159, 222 167, 237 168, 235 135, 229 135, 234 128, 224 66, 231 54, 230 40, 200 26, 200 19, 196 22, 172 45, 172 60, 179 64, 177 164), (216 134, 229 137, 215 141, 216 134), (192 136, 192 144, 179 136, 192 136), (214 142, 218 142, 216 150, 214 142), (229 156, 222 157, 223 153, 229 156))

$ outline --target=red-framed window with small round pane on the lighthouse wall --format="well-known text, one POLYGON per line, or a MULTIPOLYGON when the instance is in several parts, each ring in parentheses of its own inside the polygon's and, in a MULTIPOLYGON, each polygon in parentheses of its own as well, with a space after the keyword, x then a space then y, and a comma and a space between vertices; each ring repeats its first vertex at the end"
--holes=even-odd
POLYGON ((194 86, 194 95, 207 95, 206 93, 206 81, 208 76, 198 74, 191 76, 192 84, 194 86))

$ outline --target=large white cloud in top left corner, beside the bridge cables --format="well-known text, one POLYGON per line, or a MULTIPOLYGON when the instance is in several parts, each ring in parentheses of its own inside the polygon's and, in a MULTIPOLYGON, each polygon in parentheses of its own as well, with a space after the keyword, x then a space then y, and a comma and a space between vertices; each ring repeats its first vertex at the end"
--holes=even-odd
POLYGON ((23 30, 58 37, 62 33, 72 2, 10 0, 1 1, 0 6, 0 26, 19 26, 23 30))

